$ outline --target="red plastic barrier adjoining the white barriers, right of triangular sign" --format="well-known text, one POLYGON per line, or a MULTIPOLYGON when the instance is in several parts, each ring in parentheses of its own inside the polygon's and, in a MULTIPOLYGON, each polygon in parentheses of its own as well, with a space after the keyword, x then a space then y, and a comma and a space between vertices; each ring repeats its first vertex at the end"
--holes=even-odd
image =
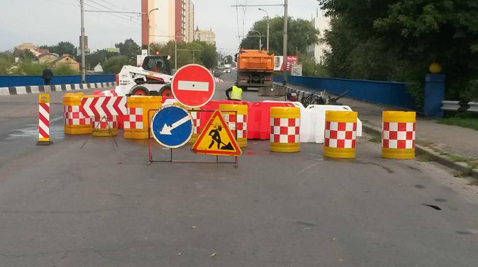
MULTIPOLYGON (((247 139, 268 140, 271 136, 271 108, 294 107, 291 102, 254 102, 249 106, 247 139)), ((299 112, 300 113, 300 112, 299 112)))

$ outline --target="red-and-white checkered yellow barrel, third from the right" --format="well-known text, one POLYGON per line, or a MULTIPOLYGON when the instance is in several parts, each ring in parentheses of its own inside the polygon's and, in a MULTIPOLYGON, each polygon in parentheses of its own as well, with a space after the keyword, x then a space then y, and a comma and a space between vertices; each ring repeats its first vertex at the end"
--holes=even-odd
POLYGON ((300 151, 300 108, 271 107, 270 150, 273 152, 300 151))

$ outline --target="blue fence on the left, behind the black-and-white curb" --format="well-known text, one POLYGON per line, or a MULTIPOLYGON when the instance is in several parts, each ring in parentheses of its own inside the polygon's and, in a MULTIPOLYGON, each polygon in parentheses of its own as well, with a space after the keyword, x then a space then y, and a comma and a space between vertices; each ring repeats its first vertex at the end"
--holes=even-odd
MULTIPOLYGON (((86 76, 87 83, 114 82, 115 80, 116 76, 114 74, 92 74, 86 76)), ((53 76, 53 79, 51 80, 52 85, 78 83, 81 83, 81 75, 53 76)), ((45 81, 41 79, 41 76, 0 76, 0 87, 44 84, 45 81)))

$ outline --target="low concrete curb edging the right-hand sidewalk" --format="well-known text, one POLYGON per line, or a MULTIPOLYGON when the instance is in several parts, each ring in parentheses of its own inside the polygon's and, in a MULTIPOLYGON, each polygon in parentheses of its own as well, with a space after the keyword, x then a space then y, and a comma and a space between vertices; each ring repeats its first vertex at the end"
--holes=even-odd
MULTIPOLYGON (((382 135, 382 130, 376 126, 372 126, 362 122, 362 128, 364 129, 364 131, 368 133, 374 133, 380 136, 382 135)), ((438 162, 444 166, 447 166, 448 168, 452 168, 454 170, 463 172, 467 175, 470 175, 478 179, 478 169, 471 169, 471 167, 464 162, 454 162, 448 159, 447 157, 445 157, 444 155, 441 155, 440 153, 435 152, 434 150, 421 145, 415 145, 415 151, 418 154, 427 155, 428 157, 433 159, 433 161, 438 162)))

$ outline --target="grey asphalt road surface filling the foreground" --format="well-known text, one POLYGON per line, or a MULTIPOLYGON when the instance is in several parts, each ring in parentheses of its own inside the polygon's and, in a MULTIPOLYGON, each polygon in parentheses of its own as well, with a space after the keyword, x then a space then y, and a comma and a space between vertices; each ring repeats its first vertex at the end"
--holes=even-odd
MULTIPOLYGON (((224 75, 223 98, 234 74, 224 75)), ((258 100, 254 92, 244 99, 258 100)), ((229 164, 147 166, 146 141, 65 136, 51 146, 36 95, 0 98, 0 266, 476 266, 478 190, 450 170, 323 146, 249 141, 229 164), (434 205, 433 207, 424 205, 434 205)), ((156 159, 168 150, 154 147, 156 159)), ((188 147, 178 159, 206 158, 188 147)))

